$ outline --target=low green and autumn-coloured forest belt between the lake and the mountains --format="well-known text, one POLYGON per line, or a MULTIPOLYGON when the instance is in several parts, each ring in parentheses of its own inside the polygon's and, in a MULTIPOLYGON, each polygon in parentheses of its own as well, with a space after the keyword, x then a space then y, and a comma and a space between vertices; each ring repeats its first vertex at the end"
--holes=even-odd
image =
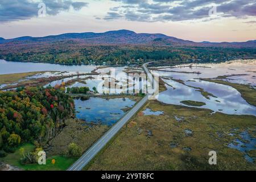
POLYGON ((256 57, 254 48, 171 46, 83 46, 76 42, 0 44, 0 59, 55 64, 134 64, 145 61, 214 61, 256 57))

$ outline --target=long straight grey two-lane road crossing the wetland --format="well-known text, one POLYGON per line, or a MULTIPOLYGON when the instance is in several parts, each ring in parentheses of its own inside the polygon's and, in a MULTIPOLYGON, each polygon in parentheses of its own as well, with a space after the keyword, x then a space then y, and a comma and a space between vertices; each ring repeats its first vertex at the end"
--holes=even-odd
MULTIPOLYGON (((143 64, 143 69, 146 73, 150 73, 147 69, 147 64, 143 64)), ((77 160, 71 167, 68 168, 68 171, 81 171, 90 160, 94 158, 101 151, 101 149, 122 129, 123 126, 141 109, 141 107, 146 104, 148 97, 151 96, 147 94, 142 98, 131 110, 129 110, 115 125, 107 131, 92 147, 87 150, 79 160, 77 160)))

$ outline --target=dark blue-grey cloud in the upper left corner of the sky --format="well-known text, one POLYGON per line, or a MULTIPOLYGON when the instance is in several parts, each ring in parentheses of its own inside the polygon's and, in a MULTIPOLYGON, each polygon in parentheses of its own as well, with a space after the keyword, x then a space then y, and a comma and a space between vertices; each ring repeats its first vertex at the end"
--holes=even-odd
MULTIPOLYGON (((68 11, 71 7, 80 10, 88 6, 86 2, 76 2, 72 0, 42 0, 46 4, 46 12, 49 15, 57 15, 61 11, 68 11)), ((39 1, 31 0, 0 0, 0 22, 11 22, 15 20, 25 20, 38 16, 39 1)))

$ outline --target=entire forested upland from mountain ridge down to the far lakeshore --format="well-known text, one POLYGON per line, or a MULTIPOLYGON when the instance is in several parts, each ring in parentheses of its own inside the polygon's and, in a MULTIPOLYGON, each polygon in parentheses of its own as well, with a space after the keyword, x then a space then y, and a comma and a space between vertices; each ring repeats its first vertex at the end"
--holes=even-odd
POLYGON ((214 61, 256 57, 256 40, 196 43, 129 30, 0 39, 0 59, 55 64, 134 64, 145 61, 214 61))

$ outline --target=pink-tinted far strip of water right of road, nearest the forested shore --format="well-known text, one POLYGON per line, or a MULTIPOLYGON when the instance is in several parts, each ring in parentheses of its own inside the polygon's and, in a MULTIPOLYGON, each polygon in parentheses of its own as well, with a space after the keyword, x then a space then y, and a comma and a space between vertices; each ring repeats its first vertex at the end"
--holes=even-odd
POLYGON ((226 63, 218 64, 193 64, 193 67, 189 67, 188 64, 179 65, 175 68, 161 68, 163 71, 175 71, 175 72, 161 72, 160 76, 171 76, 175 79, 181 79, 184 81, 191 80, 192 78, 214 78, 217 76, 224 75, 242 75, 228 77, 232 78, 230 82, 236 82, 241 84, 252 84, 256 85, 256 60, 237 60, 229 61, 226 63), (181 72, 191 72, 191 73, 181 73, 181 72), (196 74, 192 72, 199 72, 201 74, 196 74), (236 81, 235 81, 236 80, 236 81))

